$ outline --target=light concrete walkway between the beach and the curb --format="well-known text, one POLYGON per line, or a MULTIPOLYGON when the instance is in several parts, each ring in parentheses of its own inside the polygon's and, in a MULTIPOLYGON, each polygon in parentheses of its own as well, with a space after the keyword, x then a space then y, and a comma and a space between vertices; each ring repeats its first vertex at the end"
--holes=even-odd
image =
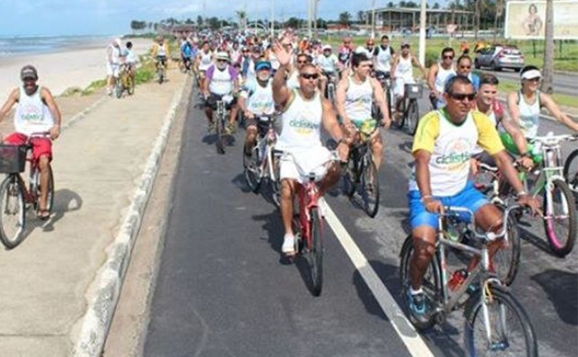
POLYGON ((106 98, 54 141, 52 218, 42 222, 29 211, 25 240, 0 251, 0 356, 71 354, 90 284, 182 89, 184 76, 171 71, 169 78, 138 86, 133 97, 106 98))

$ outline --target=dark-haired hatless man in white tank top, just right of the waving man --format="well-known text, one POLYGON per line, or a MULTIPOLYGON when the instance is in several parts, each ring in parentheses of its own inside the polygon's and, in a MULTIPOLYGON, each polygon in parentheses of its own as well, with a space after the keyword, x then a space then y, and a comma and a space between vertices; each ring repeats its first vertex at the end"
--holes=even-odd
POLYGON ((351 58, 352 76, 344 76, 337 84, 337 113, 347 130, 357 132, 355 139, 370 140, 372 157, 377 170, 383 157, 383 142, 379 130, 374 130, 377 120, 385 127, 392 123, 389 119, 383 88, 370 76, 372 60, 365 53, 354 53, 351 58), (380 118, 372 117, 373 101, 381 111, 380 118), (370 136, 371 135, 371 136, 370 136))

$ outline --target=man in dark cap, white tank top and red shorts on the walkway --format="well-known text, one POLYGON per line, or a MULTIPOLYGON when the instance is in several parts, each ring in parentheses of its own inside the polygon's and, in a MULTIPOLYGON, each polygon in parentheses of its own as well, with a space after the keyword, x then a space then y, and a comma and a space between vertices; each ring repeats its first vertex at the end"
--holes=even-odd
MULTIPOLYGON (((34 133, 48 133, 49 137, 33 137, 32 157, 39 162, 40 169, 40 200, 39 218, 46 220, 50 213, 47 211, 48 182, 50 180, 50 161, 52 161, 52 140, 60 135, 61 112, 54 102, 54 97, 45 87, 39 87, 38 73, 30 65, 20 71, 23 85, 14 89, 8 96, 6 103, 0 108, 0 121, 8 115, 14 104, 17 104, 14 113, 15 133, 3 139, 4 143, 23 145, 28 137, 34 133)), ((1 138, 1 136, 0 136, 1 138)))

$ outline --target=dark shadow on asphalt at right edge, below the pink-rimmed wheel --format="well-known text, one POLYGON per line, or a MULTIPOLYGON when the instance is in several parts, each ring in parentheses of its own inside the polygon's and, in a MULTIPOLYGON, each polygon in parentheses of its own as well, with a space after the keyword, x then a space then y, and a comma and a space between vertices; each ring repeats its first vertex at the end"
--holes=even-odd
POLYGON ((558 269, 548 269, 542 273, 532 275, 548 299, 552 301, 558 316, 562 321, 570 325, 578 325, 578 274, 568 273, 558 269))

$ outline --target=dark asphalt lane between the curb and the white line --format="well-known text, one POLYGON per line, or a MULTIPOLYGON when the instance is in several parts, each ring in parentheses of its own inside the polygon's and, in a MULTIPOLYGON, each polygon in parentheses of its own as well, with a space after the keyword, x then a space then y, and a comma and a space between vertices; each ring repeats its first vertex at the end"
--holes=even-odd
POLYGON ((280 260, 279 212, 242 176, 244 131, 219 155, 205 123, 193 109, 185 124, 144 356, 409 356, 330 229, 320 297, 280 260))

